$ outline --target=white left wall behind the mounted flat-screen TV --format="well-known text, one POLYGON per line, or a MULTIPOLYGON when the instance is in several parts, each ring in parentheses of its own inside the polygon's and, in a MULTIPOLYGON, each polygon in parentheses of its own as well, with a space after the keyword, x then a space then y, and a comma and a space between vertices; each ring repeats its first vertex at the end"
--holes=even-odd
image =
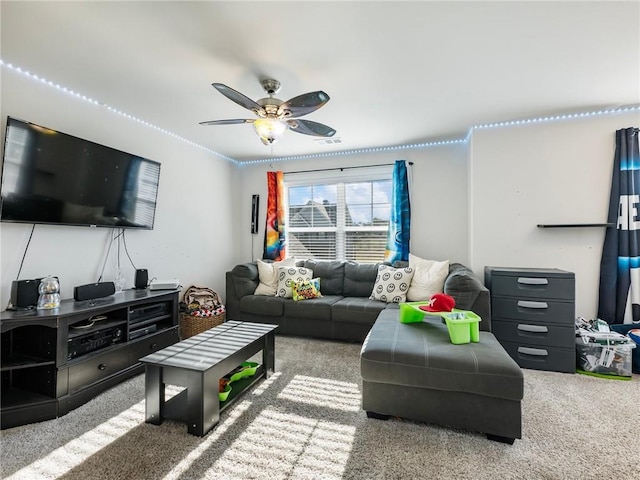
MULTIPOLYGON (((178 278, 185 288, 202 284, 224 295, 223 273, 236 256, 229 234, 235 165, 8 69, 2 71, 1 88, 3 131, 9 115, 160 162, 154 230, 126 233, 133 263, 150 277, 178 278)), ((0 224, 1 308, 9 301, 31 228, 0 224)), ((37 225, 20 279, 57 275, 62 297, 72 298, 74 286, 97 281, 110 238, 111 229, 37 225)), ((114 278, 115 252, 112 248, 105 281, 114 278)), ((124 248, 120 252, 130 288, 134 269, 124 248)))

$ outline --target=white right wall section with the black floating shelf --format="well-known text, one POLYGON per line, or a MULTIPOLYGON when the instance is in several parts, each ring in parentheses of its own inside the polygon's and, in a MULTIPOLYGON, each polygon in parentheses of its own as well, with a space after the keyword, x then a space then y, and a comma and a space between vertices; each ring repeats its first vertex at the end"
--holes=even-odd
POLYGON ((576 315, 597 315, 605 228, 537 224, 607 221, 615 131, 640 114, 584 117, 473 132, 470 263, 555 267, 576 275, 576 315))

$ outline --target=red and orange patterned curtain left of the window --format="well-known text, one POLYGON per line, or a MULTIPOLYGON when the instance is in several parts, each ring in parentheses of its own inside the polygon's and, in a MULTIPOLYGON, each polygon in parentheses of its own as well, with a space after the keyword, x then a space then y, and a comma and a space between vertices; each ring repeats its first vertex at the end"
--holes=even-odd
POLYGON ((286 257, 284 225, 284 174, 267 172, 267 221, 264 229, 262 258, 275 261, 286 257))

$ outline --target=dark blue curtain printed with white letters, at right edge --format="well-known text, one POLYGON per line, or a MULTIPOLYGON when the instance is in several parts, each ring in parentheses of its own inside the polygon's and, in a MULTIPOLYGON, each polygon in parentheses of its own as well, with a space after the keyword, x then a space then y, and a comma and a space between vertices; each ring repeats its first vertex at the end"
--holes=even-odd
POLYGON ((638 129, 616 131, 616 151, 602 260, 598 318, 640 322, 640 154, 638 129))

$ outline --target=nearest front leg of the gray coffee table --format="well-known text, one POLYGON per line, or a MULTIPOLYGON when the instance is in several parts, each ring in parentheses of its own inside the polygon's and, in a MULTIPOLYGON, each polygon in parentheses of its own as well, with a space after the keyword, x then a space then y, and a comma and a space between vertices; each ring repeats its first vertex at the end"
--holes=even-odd
POLYGON ((187 385, 187 431, 202 437, 220 421, 218 380, 210 369, 190 372, 187 385))

